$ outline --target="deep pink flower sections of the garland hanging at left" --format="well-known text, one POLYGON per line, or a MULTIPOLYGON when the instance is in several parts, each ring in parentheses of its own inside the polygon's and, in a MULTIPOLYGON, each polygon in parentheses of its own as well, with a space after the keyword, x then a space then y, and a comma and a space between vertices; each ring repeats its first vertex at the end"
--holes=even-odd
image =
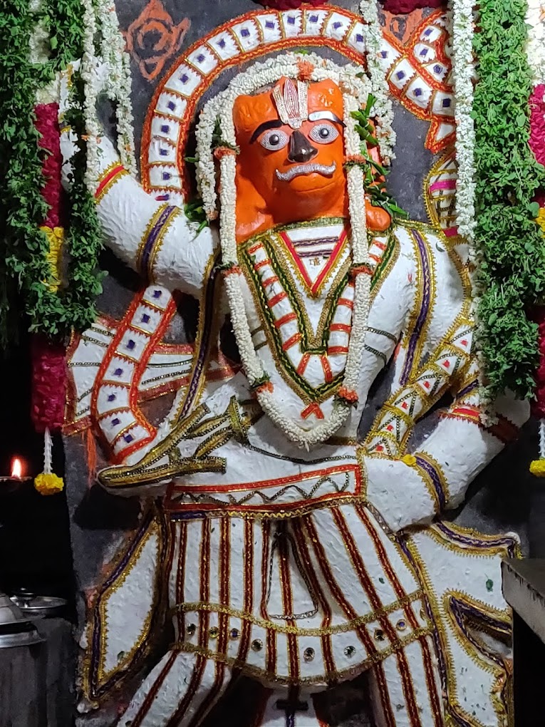
MULTIPOLYGON (((41 194, 49 206, 44 227, 58 228, 62 220, 62 185, 59 107, 56 103, 36 106, 36 129, 45 150, 42 173, 45 184, 41 194)), ((37 432, 59 431, 64 422, 66 393, 65 347, 43 336, 33 336, 31 418, 37 432)))

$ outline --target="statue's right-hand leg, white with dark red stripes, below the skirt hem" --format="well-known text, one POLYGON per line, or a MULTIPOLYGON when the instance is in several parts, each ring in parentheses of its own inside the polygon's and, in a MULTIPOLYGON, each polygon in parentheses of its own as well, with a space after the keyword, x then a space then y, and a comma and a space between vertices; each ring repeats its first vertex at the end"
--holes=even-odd
POLYGON ((369 675, 376 727, 443 727, 440 676, 430 636, 387 656, 369 675))

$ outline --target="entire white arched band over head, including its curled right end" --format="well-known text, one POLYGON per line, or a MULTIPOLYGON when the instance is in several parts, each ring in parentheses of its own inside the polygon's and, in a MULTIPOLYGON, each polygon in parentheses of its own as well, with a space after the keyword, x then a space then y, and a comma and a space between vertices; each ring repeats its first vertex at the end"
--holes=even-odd
MULTIPOLYGON (((365 4, 371 7, 366 0, 365 4)), ((433 153, 452 142, 456 128, 450 65, 441 50, 445 23, 442 11, 432 13, 416 28, 408 49, 389 33, 379 31, 379 39, 375 38, 389 91, 408 111, 429 121, 426 145, 433 153)), ((150 103, 140 156, 145 189, 159 201, 187 201, 190 127, 195 111, 224 71, 302 47, 331 49, 356 65, 366 65, 368 28, 363 17, 340 7, 302 7, 254 10, 208 33, 179 57, 150 103)))

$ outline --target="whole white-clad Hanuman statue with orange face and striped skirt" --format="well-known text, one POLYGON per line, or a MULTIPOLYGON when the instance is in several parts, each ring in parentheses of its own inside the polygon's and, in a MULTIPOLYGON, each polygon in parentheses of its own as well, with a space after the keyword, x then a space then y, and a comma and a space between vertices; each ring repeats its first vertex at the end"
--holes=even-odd
POLYGON ((240 673, 266 687, 256 726, 325 725, 313 695, 363 672, 377 727, 440 727, 455 701, 426 574, 446 559, 463 578, 455 558, 478 547, 430 523, 528 411, 501 398, 496 424, 481 422, 464 245, 376 201, 392 140, 361 71, 284 53, 212 97, 196 130, 199 230, 100 143, 108 245, 150 284, 97 387, 113 448, 98 476, 162 498, 161 564, 133 555, 140 586, 116 593, 136 618, 145 573, 162 569, 175 634, 120 727, 198 727, 240 673), (130 377, 176 291, 207 306, 198 340, 229 316, 240 364, 193 376, 134 449, 130 377))

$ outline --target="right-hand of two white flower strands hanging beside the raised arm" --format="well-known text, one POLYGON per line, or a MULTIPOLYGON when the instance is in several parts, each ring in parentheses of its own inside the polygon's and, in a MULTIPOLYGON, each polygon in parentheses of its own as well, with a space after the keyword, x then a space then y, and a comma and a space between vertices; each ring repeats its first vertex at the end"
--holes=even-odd
POLYGON ((106 92, 117 102, 118 151, 124 167, 137 173, 134 158, 134 129, 131 103, 131 72, 129 55, 125 51, 124 37, 119 31, 116 6, 112 0, 97 0, 100 23, 102 60, 108 66, 106 92))

